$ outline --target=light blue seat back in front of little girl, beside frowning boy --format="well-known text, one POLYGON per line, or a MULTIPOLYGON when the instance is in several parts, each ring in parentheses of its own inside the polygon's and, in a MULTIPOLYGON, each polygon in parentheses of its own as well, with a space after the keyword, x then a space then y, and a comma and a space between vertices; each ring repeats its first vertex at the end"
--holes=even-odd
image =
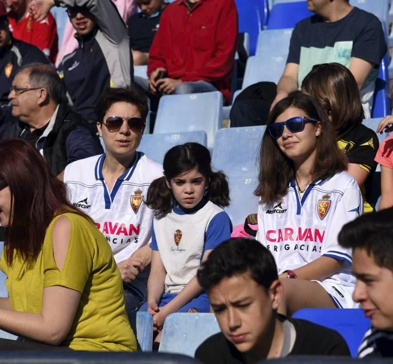
POLYGON ((213 313, 172 313, 165 319, 159 352, 194 357, 198 346, 218 332, 213 313))

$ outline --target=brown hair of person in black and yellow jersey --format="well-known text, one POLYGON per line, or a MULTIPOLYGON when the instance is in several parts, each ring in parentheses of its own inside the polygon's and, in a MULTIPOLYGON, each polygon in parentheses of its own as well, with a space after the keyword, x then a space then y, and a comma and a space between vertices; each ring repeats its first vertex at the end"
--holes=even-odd
POLYGON ((355 77, 342 64, 314 65, 302 82, 302 91, 332 116, 338 134, 361 124, 365 117, 355 77))

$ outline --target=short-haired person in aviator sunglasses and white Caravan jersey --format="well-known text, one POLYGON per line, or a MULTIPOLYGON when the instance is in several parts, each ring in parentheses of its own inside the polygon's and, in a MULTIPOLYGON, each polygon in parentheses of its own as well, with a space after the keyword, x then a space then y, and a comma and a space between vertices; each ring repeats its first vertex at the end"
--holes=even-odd
POLYGON ((148 113, 138 86, 103 92, 95 109, 106 152, 71 163, 64 183, 71 202, 87 213, 107 238, 123 279, 127 312, 146 299, 153 211, 144 204, 162 166, 137 152, 148 113))

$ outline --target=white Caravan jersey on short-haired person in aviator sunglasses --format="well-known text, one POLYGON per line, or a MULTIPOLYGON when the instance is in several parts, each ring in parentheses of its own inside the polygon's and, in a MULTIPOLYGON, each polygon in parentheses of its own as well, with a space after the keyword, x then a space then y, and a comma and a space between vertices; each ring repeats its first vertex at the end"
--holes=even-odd
POLYGON ((137 152, 133 165, 110 191, 102 174, 105 156, 104 153, 70 163, 64 171, 64 183, 70 202, 93 219, 118 263, 151 239, 154 211, 143 200, 150 183, 163 176, 163 169, 137 152))

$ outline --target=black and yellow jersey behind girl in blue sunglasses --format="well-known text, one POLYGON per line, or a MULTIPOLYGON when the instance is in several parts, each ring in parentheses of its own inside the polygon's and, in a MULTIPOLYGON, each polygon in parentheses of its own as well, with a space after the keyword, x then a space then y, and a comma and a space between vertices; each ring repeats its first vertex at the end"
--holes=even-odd
POLYGON ((368 172, 364 186, 360 186, 365 201, 365 212, 372 212, 373 206, 368 202, 372 193, 372 178, 377 167, 375 154, 379 142, 377 134, 363 124, 356 125, 338 136, 338 148, 345 151, 348 162, 358 164, 368 172))

